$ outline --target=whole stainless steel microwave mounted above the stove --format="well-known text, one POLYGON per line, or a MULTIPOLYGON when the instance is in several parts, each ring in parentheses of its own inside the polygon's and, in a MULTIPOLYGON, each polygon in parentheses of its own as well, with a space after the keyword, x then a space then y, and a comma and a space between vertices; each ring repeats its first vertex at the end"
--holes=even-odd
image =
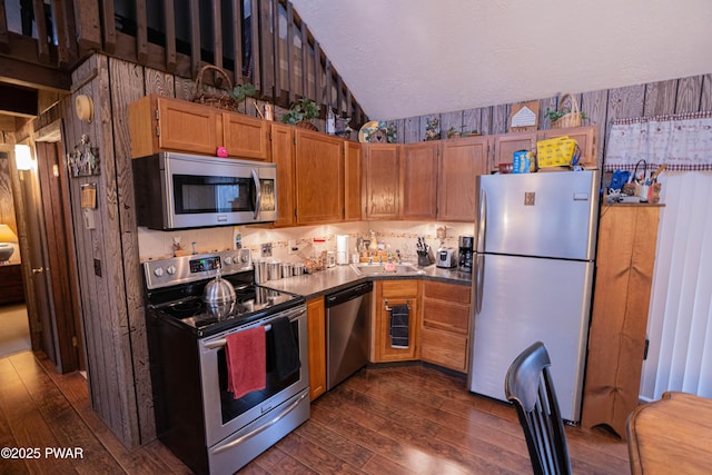
POLYGON ((138 226, 187 229, 277 219, 275 164, 164 151, 135 158, 138 226))

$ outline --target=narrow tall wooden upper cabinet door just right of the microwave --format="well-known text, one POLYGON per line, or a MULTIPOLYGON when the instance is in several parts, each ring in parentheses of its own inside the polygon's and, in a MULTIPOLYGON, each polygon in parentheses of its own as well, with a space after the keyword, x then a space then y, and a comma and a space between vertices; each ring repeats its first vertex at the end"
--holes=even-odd
POLYGON ((271 161, 277 165, 277 220, 275 227, 289 227, 296 222, 295 147, 291 126, 271 123, 271 161))

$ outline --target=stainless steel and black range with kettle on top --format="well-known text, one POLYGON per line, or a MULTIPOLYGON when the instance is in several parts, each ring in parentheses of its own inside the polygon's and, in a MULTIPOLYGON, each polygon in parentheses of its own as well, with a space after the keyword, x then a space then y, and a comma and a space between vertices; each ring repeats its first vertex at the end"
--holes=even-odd
POLYGON ((255 285, 249 250, 147 261, 144 277, 158 436, 186 465, 234 473, 309 418, 305 300, 255 285), (202 301, 218 273, 235 288, 229 311, 202 301), (256 327, 265 330, 264 388, 234 398, 228 373, 241 363, 228 364, 226 344, 256 327), (285 374, 289 350, 298 362, 285 374))

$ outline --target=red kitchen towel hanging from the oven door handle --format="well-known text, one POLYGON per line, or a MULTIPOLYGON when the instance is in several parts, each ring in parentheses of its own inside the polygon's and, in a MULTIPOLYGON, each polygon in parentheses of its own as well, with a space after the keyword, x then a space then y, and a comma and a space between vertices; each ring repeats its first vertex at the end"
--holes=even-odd
POLYGON ((247 393, 264 389, 267 380, 265 328, 236 331, 225 340, 227 390, 239 399, 247 393))

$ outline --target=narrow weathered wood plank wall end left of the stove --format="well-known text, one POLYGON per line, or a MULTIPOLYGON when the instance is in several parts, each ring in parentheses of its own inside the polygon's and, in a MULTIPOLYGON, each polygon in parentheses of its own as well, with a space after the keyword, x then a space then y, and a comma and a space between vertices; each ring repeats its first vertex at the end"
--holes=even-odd
MULTIPOLYGON (((146 354, 141 349, 141 343, 146 346, 142 310, 131 307, 131 303, 136 307, 136 300, 140 300, 140 287, 131 285, 131 280, 138 280, 138 264, 131 266, 132 273, 123 268, 126 258, 138 259, 136 251, 131 254, 131 247, 123 243, 127 224, 121 222, 119 187, 125 186, 122 178, 127 170, 125 165, 117 164, 115 155, 115 140, 126 142, 128 137, 127 133, 115 137, 113 128, 126 119, 115 117, 112 111, 108 57, 89 58, 73 71, 72 82, 83 86, 62 100, 65 152, 72 151, 86 133, 99 149, 101 170, 98 176, 70 178, 69 182, 91 404, 111 431, 131 447, 141 443, 141 433, 147 441, 154 438, 155 428, 151 428, 152 410, 150 417, 142 410, 152 404, 147 397, 151 394, 150 379, 140 373, 145 363, 140 357, 146 354), (93 100, 95 120, 89 123, 75 115, 75 98, 79 93, 93 100), (95 229, 87 229, 83 222, 80 202, 85 184, 97 185, 95 229), (137 311, 141 313, 140 318, 137 311), (141 323, 135 328, 137 319, 141 323)), ((136 240, 135 224, 129 222, 128 227, 136 240)), ((147 372, 148 365, 145 366, 147 372)))

